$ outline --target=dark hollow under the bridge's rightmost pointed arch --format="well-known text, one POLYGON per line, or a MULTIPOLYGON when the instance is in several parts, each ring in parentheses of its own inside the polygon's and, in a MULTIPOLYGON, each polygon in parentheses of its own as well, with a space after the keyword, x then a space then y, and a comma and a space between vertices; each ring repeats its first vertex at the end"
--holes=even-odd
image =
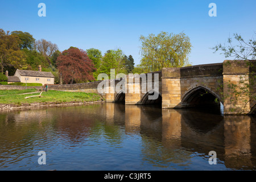
POLYGON ((221 98, 203 86, 198 86, 185 94, 181 104, 185 107, 218 107, 220 109, 221 98))

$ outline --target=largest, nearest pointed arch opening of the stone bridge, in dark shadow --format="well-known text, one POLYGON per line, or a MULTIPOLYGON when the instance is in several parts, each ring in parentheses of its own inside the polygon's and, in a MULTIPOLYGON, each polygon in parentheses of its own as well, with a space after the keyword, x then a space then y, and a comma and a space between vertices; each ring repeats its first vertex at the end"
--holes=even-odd
POLYGON ((216 105, 216 98, 223 104, 219 94, 207 88, 206 86, 196 86, 189 89, 181 97, 181 105, 197 106, 197 105, 216 105))

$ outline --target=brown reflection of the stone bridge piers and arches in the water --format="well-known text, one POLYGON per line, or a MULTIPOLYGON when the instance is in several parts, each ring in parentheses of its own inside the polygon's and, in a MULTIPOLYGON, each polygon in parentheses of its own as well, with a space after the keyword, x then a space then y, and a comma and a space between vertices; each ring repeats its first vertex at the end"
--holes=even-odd
MULTIPOLYGON (((162 110, 152 106, 119 104, 105 106, 106 114, 113 117, 112 122, 119 121, 122 115, 126 133, 140 133, 161 142, 167 150, 184 148, 202 155, 216 151, 217 158, 228 168, 252 169, 256 165, 256 161, 252 160, 256 154, 256 123, 248 115, 223 117, 190 109, 162 110), (161 111, 162 115, 159 115, 161 111)), ((150 151, 145 152, 150 154, 150 151)), ((189 154, 183 157, 190 158, 189 154)))

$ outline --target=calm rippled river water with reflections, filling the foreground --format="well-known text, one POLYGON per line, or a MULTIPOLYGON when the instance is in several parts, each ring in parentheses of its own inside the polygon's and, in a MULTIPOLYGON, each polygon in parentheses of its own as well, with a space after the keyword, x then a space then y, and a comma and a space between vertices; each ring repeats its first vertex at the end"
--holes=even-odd
POLYGON ((0 170, 256 169, 256 118, 210 111, 112 103, 5 111, 0 170))

